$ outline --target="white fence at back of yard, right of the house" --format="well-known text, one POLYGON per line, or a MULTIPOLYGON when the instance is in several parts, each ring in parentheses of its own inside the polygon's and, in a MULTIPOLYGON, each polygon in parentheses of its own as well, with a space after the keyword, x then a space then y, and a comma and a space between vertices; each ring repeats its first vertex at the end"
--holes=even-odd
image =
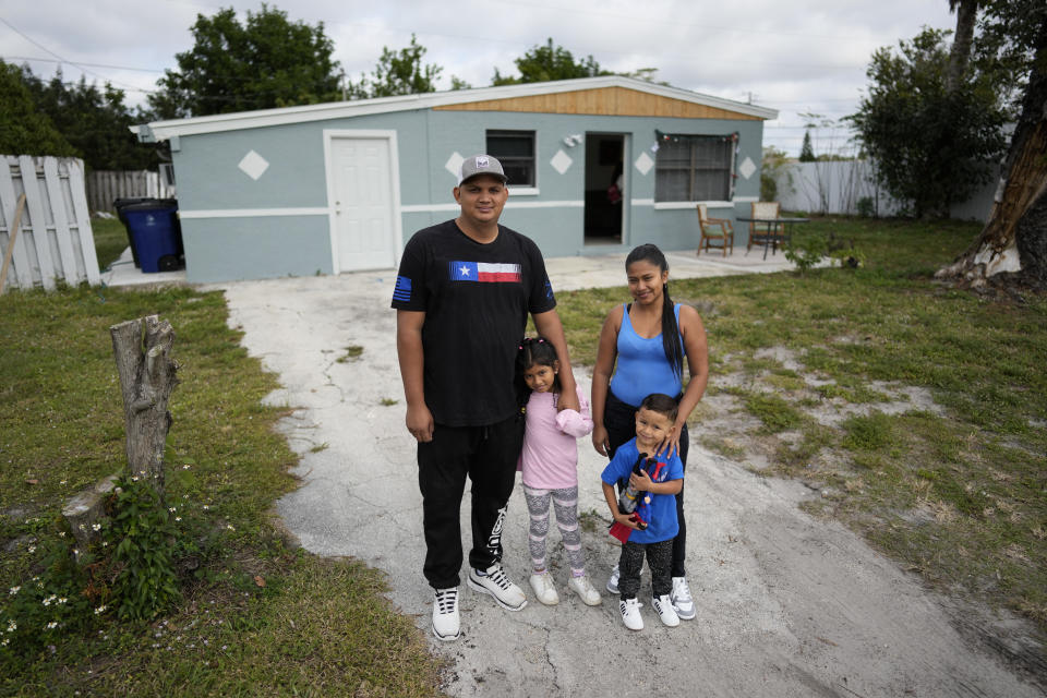
MULTIPOLYGON (((778 200, 783 210, 856 215, 867 198, 876 216, 894 216, 901 204, 884 192, 874 177, 870 160, 790 163, 777 173, 778 200)), ((952 218, 986 220, 992 207, 996 182, 976 191, 950 209, 952 218)))

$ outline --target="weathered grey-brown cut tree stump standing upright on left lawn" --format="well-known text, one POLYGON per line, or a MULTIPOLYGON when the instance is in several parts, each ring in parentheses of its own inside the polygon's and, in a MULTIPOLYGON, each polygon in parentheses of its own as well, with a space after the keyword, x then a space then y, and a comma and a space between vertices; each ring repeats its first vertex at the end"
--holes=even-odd
POLYGON ((109 334, 123 392, 128 472, 149 478, 163 496, 164 448, 172 421, 167 401, 178 385, 178 364, 170 357, 174 332, 166 320, 149 315, 113 325, 109 334))

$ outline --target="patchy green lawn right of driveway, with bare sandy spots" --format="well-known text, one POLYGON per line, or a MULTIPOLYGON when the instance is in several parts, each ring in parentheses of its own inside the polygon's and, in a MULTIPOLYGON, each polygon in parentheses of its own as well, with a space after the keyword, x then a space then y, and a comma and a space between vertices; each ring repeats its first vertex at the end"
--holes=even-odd
MULTIPOLYGON (((691 433, 737 458, 739 436, 789 432, 770 472, 828 488, 813 512, 940 589, 1047 630, 1047 299, 1003 304, 932 280, 975 238, 974 224, 823 218, 809 228, 853 240, 864 267, 671 281, 674 299, 702 309, 710 393, 733 396, 761 424, 703 434, 699 405, 691 433), (772 347, 802 369, 756 358, 772 347), (718 388, 726 373, 746 376, 746 388, 718 388), (891 386, 925 389, 941 413, 879 410, 891 386), (856 411, 833 425, 813 417, 845 407, 856 411)), ((573 357, 594 360, 599 323, 626 298, 624 275, 616 289, 558 294, 573 357)))

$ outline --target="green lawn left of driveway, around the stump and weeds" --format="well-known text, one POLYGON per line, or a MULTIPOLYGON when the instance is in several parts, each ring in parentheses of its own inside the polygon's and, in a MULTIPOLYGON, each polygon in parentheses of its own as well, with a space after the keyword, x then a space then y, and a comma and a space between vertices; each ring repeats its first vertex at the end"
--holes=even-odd
POLYGON ((0 650, 0 695, 436 695, 441 667, 384 600, 380 573, 285 545, 270 512, 296 486, 287 471, 297 457, 274 431, 287 410, 262 404, 276 377, 228 328, 218 292, 0 297, 0 616, 7 590, 44 573, 62 504, 122 469, 108 328, 153 313, 174 327, 180 364, 168 502, 194 512, 216 542, 168 617, 121 624, 110 612, 41 650, 0 650))

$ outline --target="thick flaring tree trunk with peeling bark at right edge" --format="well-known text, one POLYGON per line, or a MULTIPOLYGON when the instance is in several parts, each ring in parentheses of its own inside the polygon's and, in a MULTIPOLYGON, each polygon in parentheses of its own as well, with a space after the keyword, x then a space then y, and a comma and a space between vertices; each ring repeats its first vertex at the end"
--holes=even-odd
POLYGON ((1039 32, 989 220, 935 277, 974 289, 1047 290, 1047 26, 1039 32))

